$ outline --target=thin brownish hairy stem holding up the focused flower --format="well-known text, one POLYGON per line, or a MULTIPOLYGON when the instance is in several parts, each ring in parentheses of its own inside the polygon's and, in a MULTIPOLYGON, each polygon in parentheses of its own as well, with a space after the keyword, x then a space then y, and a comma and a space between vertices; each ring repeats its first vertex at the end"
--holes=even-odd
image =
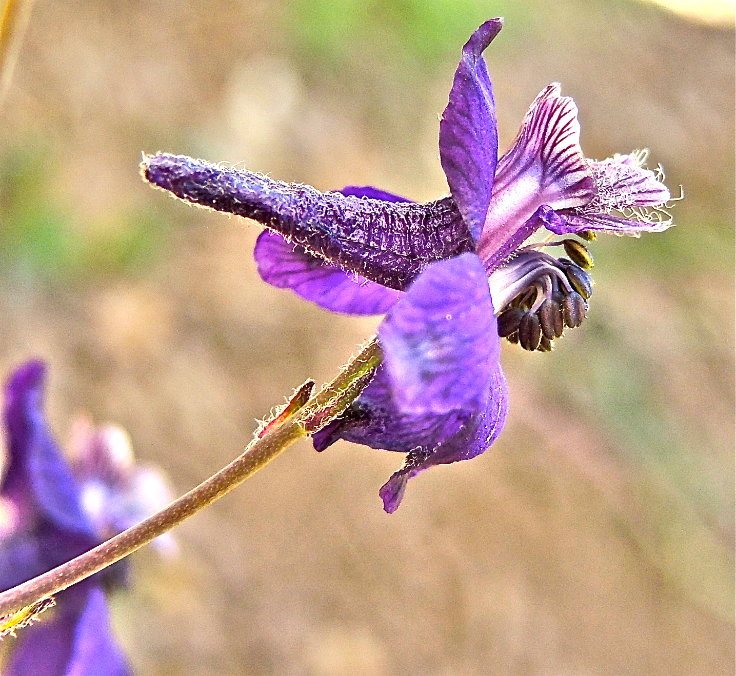
POLYGON ((381 348, 374 338, 358 356, 350 360, 333 381, 325 384, 302 408, 294 411, 291 417, 264 430, 265 434, 252 440, 243 454, 230 462, 230 465, 141 523, 51 571, 2 592, 0 616, 14 613, 40 599, 57 594, 101 571, 222 498, 291 444, 337 418, 368 384, 373 369, 380 363, 381 348))

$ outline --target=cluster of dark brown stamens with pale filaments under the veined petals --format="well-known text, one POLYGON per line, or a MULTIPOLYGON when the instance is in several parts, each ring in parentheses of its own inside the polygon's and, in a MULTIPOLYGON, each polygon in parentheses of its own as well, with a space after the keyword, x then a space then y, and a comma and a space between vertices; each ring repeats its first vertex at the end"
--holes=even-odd
MULTIPOLYGON (((592 235, 583 235, 592 239, 592 235)), ((586 317, 593 281, 587 247, 576 239, 523 247, 488 279, 498 317, 498 335, 529 351, 549 352, 565 327, 586 317), (554 258, 547 247, 562 246, 569 258, 554 258)))

